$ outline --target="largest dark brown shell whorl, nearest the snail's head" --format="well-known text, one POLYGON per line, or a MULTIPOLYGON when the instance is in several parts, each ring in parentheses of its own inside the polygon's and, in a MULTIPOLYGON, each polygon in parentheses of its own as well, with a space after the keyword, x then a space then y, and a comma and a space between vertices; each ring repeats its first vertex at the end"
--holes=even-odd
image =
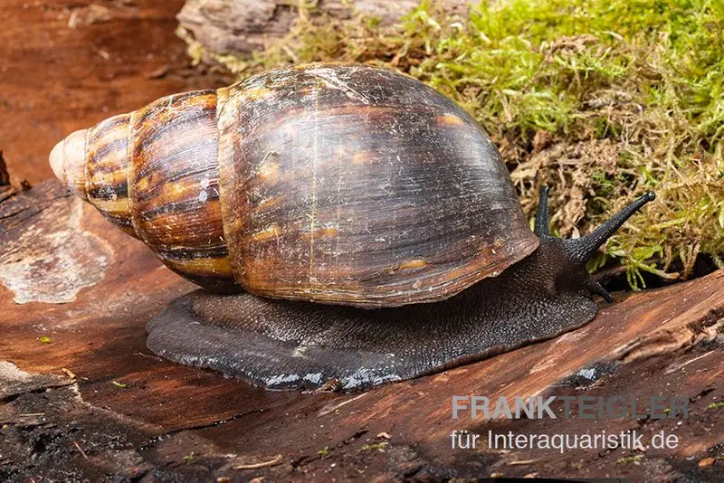
POLYGON ((419 80, 310 64, 219 90, 218 104, 225 239, 254 295, 432 302, 538 246, 490 137, 419 80))

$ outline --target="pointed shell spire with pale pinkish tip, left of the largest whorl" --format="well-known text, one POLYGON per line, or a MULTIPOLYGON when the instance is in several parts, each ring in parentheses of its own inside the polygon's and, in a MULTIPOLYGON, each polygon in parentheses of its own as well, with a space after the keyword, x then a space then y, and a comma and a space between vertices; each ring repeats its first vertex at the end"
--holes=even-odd
POLYGON ((171 270, 237 288, 219 207, 216 94, 158 99, 72 133, 51 154, 56 176, 171 270))

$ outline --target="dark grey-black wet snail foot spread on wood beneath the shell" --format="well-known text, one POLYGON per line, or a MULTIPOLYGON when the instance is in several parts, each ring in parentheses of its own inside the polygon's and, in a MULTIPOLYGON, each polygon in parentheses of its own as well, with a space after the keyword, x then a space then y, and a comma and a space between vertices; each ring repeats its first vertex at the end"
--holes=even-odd
POLYGON ((475 298, 493 296, 479 285, 445 302, 378 309, 197 290, 148 323, 147 345, 266 389, 323 390, 334 381, 336 390, 359 391, 557 336, 595 315, 593 302, 571 296, 541 300, 534 311, 518 304, 491 308, 484 320, 461 317, 480 309, 475 298))

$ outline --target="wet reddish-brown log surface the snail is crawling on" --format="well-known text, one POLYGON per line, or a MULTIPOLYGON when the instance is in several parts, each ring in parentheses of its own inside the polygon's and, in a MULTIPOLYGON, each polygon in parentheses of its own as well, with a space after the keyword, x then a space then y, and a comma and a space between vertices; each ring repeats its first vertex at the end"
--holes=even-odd
POLYGON ((369 393, 274 393, 149 353, 148 319, 194 287, 59 184, 14 193, 0 204, 0 247, 4 478, 537 473, 686 474, 713 481, 720 471, 724 270, 668 289, 617 295, 618 302, 575 332, 443 374, 369 393), (681 395, 691 401, 691 414, 688 420, 595 422, 451 417, 452 395, 580 393, 681 395), (681 444, 563 456, 450 448, 453 430, 632 428, 649 436, 672 431, 681 444), (233 469, 279 455, 269 468, 233 469), (640 460, 625 462, 631 457, 640 460))

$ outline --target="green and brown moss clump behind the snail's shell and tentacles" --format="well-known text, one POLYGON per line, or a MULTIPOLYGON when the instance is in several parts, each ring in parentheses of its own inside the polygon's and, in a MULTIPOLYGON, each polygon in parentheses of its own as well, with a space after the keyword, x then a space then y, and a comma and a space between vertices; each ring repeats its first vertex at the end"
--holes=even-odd
POLYGON ((404 71, 488 130, 531 220, 538 186, 551 185, 561 236, 656 191, 591 270, 617 260, 636 289, 642 270, 687 277, 702 256, 724 266, 724 2, 500 0, 459 18, 423 1, 385 29, 313 22, 309 4, 265 52, 210 53, 240 78, 319 61, 404 71))

